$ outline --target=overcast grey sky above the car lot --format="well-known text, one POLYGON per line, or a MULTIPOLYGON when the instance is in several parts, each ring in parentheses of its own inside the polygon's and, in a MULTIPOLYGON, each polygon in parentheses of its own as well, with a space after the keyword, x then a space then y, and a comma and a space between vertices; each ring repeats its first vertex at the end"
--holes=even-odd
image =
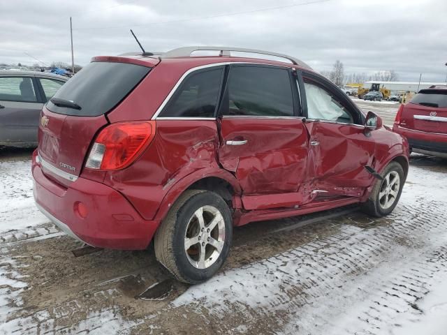
POLYGON ((446 80, 446 0, 317 1, 0 0, 0 63, 71 63, 71 15, 80 65, 138 50, 133 29, 149 51, 250 47, 291 54, 318 71, 339 59, 345 73, 446 80))

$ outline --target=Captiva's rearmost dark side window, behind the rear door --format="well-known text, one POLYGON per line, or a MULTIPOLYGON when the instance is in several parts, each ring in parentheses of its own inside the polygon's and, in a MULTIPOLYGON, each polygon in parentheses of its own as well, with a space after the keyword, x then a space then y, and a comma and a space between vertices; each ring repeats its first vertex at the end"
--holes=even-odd
POLYGON ((160 117, 214 117, 222 75, 217 68, 186 77, 160 117))

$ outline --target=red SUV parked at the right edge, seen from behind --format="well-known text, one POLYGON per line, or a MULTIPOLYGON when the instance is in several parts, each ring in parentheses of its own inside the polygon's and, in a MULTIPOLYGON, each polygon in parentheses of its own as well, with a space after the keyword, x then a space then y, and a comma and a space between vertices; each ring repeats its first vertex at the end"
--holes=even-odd
POLYGON ((400 105, 393 131, 407 138, 411 151, 447 158, 447 85, 421 89, 400 105))

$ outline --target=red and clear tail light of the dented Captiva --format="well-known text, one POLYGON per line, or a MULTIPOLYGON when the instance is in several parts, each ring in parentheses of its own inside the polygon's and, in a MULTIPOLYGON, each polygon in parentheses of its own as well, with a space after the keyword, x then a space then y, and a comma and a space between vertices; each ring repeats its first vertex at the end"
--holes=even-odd
POLYGON ((85 167, 120 170, 131 165, 155 136, 155 121, 131 121, 103 128, 90 149, 85 167))

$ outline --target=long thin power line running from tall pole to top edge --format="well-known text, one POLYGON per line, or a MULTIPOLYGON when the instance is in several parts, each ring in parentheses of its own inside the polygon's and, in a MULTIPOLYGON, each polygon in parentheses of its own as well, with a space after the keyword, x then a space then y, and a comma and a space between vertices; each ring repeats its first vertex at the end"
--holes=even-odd
POLYGON ((129 24, 129 25, 125 25, 125 26, 122 25, 122 26, 109 26, 109 27, 91 27, 91 28, 81 28, 81 29, 73 29, 73 30, 76 30, 76 31, 87 31, 87 30, 117 29, 117 28, 127 28, 127 27, 154 26, 156 24, 169 24, 169 23, 189 22, 189 21, 194 21, 194 20, 214 19, 214 18, 217 18, 217 17, 228 17, 228 16, 234 16, 234 15, 266 12, 266 11, 269 11, 269 10, 279 10, 279 9, 291 8, 291 7, 297 7, 297 6, 312 5, 314 3, 323 3, 323 2, 328 2, 328 1, 330 1, 330 0, 314 0, 314 1, 307 1, 307 2, 302 2, 302 3, 293 3, 291 5, 286 5, 286 6, 276 6, 276 7, 255 9, 255 10, 245 10, 245 11, 236 12, 236 13, 226 13, 226 14, 208 15, 208 16, 200 16, 200 17, 190 17, 188 19, 180 19, 180 20, 152 22, 152 23, 147 23, 147 24, 129 24))

